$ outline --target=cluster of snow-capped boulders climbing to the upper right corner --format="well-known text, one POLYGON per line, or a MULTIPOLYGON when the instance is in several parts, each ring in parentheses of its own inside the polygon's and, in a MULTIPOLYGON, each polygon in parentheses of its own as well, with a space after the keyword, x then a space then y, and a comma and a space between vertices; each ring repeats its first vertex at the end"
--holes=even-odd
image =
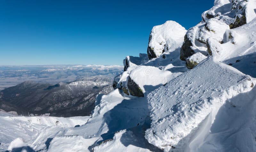
POLYGON ((251 22, 256 17, 255 8, 254 0, 215 0, 214 6, 202 14, 203 21, 190 28, 185 35, 180 59, 185 61, 197 52, 206 55, 208 38, 220 43, 227 42, 225 33, 230 33, 229 28, 235 29, 251 22))

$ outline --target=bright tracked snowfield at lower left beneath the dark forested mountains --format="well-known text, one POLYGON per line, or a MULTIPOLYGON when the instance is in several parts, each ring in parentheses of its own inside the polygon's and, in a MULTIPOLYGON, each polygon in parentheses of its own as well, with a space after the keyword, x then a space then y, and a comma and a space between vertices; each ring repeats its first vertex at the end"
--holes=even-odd
POLYGON ((73 128, 76 125, 83 125, 88 119, 89 117, 4 117, 1 115, 0 151, 13 150, 27 145, 35 148, 33 142, 39 139, 40 142, 37 142, 36 147, 46 147, 45 142, 54 133, 62 131, 65 127, 73 128), (43 136, 46 138, 45 141, 43 136))

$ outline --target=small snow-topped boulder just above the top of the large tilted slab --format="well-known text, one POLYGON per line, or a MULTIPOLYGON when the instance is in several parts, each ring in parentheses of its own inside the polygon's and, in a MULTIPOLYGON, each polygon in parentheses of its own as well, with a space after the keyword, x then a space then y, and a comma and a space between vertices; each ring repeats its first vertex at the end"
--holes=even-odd
POLYGON ((202 53, 198 52, 186 59, 186 66, 188 69, 193 69, 196 65, 198 65, 205 58, 207 58, 207 57, 204 56, 202 53))

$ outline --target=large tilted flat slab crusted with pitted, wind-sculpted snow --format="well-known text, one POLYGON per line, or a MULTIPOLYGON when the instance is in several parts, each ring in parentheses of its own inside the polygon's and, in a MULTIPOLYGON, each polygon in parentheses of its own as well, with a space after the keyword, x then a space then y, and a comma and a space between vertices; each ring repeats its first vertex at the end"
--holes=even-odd
POLYGON ((182 151, 212 111, 253 85, 250 76, 210 57, 148 95, 152 123, 145 137, 164 151, 182 151))

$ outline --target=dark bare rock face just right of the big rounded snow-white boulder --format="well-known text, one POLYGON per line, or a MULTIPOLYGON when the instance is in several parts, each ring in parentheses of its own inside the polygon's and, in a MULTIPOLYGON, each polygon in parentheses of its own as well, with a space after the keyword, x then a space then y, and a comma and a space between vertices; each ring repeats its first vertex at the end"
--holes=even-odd
POLYGON ((180 49, 180 59, 182 61, 186 61, 186 58, 195 54, 195 51, 191 49, 192 42, 188 39, 188 35, 186 34, 184 37, 184 43, 180 49))

